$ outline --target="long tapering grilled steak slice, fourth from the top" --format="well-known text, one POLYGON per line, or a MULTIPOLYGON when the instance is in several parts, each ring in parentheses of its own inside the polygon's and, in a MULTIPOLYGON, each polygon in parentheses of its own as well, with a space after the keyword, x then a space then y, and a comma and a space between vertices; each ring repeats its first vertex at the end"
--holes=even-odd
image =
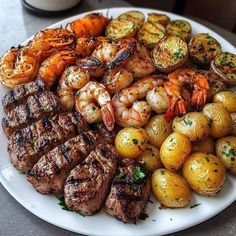
POLYGON ((101 136, 87 131, 54 148, 34 165, 28 181, 38 192, 61 194, 70 171, 97 146, 101 136))

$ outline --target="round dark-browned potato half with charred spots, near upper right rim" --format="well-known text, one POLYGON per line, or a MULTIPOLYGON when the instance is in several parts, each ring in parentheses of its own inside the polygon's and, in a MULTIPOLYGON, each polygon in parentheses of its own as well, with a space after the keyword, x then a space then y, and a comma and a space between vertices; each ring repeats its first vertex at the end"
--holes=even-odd
POLYGON ((188 45, 192 60, 201 65, 209 65, 221 53, 220 43, 204 33, 194 35, 188 45))

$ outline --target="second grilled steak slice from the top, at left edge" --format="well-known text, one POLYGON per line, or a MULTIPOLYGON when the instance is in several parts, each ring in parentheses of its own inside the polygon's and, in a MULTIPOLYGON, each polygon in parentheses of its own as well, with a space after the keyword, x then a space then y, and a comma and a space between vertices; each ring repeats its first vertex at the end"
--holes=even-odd
POLYGON ((61 111, 57 97, 49 91, 38 92, 27 98, 26 103, 14 107, 2 119, 5 134, 9 137, 15 130, 26 127, 45 116, 61 111))

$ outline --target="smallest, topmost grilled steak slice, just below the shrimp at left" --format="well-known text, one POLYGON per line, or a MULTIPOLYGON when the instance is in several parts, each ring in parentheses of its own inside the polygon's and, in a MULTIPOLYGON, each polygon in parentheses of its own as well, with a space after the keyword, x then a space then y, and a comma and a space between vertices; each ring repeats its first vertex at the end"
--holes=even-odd
POLYGON ((2 99, 2 106, 4 108, 4 111, 9 112, 15 106, 24 102, 29 96, 45 90, 48 90, 48 88, 41 78, 11 89, 5 94, 2 99))

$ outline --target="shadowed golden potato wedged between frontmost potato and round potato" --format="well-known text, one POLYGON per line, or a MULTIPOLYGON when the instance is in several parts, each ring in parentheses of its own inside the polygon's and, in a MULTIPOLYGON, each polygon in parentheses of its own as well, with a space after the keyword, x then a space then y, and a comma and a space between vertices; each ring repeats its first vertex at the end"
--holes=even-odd
POLYGON ((138 156, 138 160, 141 161, 150 172, 163 167, 159 149, 151 144, 148 144, 147 148, 138 156))

